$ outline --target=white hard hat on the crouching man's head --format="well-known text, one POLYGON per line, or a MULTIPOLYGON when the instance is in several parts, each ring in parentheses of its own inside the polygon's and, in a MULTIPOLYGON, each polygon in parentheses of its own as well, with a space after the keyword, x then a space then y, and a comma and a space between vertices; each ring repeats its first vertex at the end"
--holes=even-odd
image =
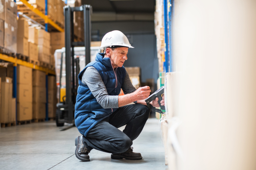
POLYGON ((131 46, 130 42, 128 41, 128 38, 123 34, 121 31, 111 31, 108 32, 103 38, 102 38, 102 44, 100 46, 100 49, 104 49, 104 47, 128 47, 128 48, 134 48, 131 46))

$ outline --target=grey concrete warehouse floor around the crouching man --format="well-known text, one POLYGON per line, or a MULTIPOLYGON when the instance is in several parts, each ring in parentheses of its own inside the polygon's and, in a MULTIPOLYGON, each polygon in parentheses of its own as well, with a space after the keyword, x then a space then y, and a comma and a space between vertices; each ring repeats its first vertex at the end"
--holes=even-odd
MULTIPOLYGON (((122 130, 124 127, 121 127, 122 130)), ((160 141, 158 120, 148 119, 134 140, 134 152, 142 160, 113 160, 110 153, 92 150, 90 162, 74 155, 76 127, 60 131, 54 121, 0 128, 1 170, 165 170, 164 147, 160 141)))

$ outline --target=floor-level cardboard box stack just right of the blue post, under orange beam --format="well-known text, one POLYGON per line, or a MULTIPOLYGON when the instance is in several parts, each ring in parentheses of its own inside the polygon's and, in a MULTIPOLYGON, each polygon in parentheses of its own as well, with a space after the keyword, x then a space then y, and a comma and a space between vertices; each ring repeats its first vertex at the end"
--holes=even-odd
POLYGON ((32 68, 17 65, 17 121, 32 119, 32 68))

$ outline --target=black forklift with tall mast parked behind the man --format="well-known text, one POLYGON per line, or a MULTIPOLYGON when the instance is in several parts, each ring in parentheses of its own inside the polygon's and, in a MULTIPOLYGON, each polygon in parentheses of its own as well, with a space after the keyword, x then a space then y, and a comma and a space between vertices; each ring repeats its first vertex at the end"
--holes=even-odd
POLYGON ((85 48, 85 65, 90 62, 90 42, 91 42, 91 20, 92 7, 90 5, 82 5, 79 7, 64 7, 65 18, 65 48, 62 48, 61 53, 61 71, 60 81, 62 77, 63 58, 65 55, 66 68, 66 88, 59 88, 59 101, 56 105, 56 125, 64 126, 64 123, 75 125, 75 104, 78 89, 78 74, 79 74, 79 58, 75 58, 74 48, 84 46, 85 48), (83 12, 84 21, 84 41, 75 42, 74 35, 74 12, 83 12), (64 53, 65 51, 65 53, 64 53), (65 91, 63 91, 65 90, 65 91), (63 93, 64 92, 64 93, 63 93), (65 93, 66 92, 66 93, 65 93), (61 95, 65 94, 65 96, 61 95))

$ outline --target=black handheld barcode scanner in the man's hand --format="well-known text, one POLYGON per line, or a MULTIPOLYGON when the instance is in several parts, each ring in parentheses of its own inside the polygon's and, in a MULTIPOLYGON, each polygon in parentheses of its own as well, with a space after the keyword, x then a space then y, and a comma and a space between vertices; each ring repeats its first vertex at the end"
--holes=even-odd
POLYGON ((148 108, 150 108, 152 111, 156 111, 158 113, 164 113, 165 112, 165 107, 161 105, 160 101, 163 99, 162 95, 164 93, 164 86, 161 87, 160 89, 158 89, 157 91, 155 91, 153 94, 151 94, 150 96, 148 96, 147 99, 145 99, 145 102, 148 105, 148 108), (152 105, 150 105, 149 103, 151 101, 153 101, 155 98, 158 98, 158 104, 160 105, 160 109, 156 109, 154 107, 151 107, 152 105))

